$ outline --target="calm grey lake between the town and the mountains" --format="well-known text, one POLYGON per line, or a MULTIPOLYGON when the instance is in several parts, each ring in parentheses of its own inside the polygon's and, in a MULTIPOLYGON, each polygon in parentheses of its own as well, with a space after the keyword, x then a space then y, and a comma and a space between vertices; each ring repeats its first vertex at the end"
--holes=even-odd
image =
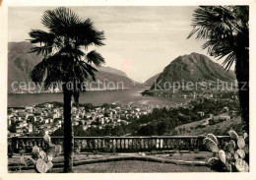
MULTIPOLYGON (((135 105, 173 105, 189 100, 182 97, 143 96, 143 89, 86 91, 80 95, 80 103, 135 104, 135 105)), ((9 93, 8 106, 30 106, 43 102, 63 102, 62 93, 9 93)))

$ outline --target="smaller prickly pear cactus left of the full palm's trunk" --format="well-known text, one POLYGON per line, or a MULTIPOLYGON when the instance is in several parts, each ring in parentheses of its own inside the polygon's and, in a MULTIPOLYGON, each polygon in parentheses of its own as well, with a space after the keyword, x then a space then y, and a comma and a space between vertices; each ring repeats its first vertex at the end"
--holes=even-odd
POLYGON ((44 135, 43 141, 47 145, 45 150, 34 146, 32 147, 32 156, 23 155, 21 157, 22 163, 27 166, 33 164, 35 170, 39 173, 48 172, 53 167, 53 157, 61 153, 61 146, 52 144, 49 135, 44 135))

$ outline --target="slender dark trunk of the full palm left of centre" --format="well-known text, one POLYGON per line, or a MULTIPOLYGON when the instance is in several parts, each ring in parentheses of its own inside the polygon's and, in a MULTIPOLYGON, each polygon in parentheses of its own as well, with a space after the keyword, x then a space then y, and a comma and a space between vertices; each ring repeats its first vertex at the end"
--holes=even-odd
POLYGON ((62 87, 64 95, 64 172, 73 172, 74 132, 71 119, 72 91, 67 84, 62 87))

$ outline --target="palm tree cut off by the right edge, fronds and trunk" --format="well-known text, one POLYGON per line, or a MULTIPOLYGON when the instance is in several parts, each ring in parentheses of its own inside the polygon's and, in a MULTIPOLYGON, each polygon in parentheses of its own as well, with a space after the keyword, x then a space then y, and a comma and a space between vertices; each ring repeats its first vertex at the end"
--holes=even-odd
POLYGON ((197 33, 196 39, 206 40, 202 48, 224 58, 226 71, 235 62, 243 128, 249 132, 249 7, 200 6, 193 17, 188 38, 197 33))

